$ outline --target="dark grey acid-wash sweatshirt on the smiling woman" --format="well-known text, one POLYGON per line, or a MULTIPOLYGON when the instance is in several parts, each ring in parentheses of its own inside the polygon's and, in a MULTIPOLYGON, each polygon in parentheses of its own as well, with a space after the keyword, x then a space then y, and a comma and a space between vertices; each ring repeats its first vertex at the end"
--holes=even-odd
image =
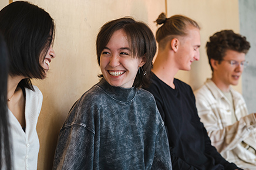
POLYGON ((102 79, 71 108, 53 169, 172 169, 169 150, 152 94, 102 79))

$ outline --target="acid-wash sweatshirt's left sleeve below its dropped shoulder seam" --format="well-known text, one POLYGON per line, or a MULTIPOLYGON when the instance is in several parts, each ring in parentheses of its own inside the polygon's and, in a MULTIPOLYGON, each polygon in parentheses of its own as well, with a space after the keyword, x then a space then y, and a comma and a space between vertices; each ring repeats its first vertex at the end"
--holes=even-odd
POLYGON ((93 169, 93 136, 80 125, 64 127, 59 134, 53 169, 93 169))

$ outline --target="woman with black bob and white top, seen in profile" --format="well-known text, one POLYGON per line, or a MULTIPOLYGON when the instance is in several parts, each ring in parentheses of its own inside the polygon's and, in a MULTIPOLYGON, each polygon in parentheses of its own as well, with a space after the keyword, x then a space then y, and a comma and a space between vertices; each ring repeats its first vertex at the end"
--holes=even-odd
POLYGON ((0 30, 9 53, 7 106, 14 169, 36 169, 42 93, 31 79, 44 79, 55 57, 55 23, 42 8, 16 1, 0 11, 0 30))

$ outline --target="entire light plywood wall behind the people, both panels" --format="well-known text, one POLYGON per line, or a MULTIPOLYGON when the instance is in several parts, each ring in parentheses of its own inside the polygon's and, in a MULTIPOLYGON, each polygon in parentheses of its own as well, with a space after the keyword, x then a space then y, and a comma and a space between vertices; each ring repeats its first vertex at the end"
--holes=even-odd
MULTIPOLYGON (((4 2, 7 0, 1 0, 4 2)), ((70 107, 93 84, 97 83, 95 40, 100 26, 122 16, 144 21, 156 32, 154 20, 167 8, 167 16, 186 15, 201 26, 201 59, 191 72, 178 72, 177 78, 194 90, 211 76, 204 46, 210 35, 221 29, 239 32, 237 0, 30 0, 50 13, 56 22, 53 49, 56 58, 50 64, 45 80, 33 83, 43 93, 43 106, 38 120, 41 144, 38 169, 52 169, 53 154, 60 127, 70 107), (167 6, 166 6, 167 2, 167 6)), ((0 8, 5 4, 0 3, 0 8)), ((241 86, 238 86, 241 91, 241 86)))

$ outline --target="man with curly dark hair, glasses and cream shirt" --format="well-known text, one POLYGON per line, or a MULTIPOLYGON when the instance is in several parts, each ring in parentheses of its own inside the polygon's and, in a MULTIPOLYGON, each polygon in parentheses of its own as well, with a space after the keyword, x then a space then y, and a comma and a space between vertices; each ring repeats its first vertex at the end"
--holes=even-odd
POLYGON ((233 30, 221 30, 206 44, 212 70, 196 94, 198 115, 211 144, 229 162, 256 169, 256 114, 248 114, 244 98, 232 89, 238 84, 250 43, 233 30))

